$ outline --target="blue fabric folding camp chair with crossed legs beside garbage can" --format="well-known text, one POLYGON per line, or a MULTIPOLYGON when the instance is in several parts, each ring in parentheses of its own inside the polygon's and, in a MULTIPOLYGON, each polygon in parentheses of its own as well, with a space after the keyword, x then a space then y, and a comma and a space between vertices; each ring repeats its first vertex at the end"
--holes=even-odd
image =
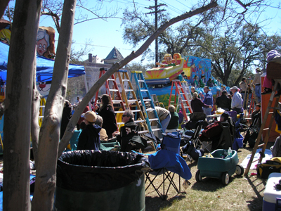
POLYGON ((170 187, 173 187, 177 193, 181 192, 181 177, 185 180, 191 179, 190 169, 179 155, 180 142, 181 139, 178 136, 168 134, 163 137, 161 150, 148 155, 150 171, 145 173, 145 183, 148 182, 145 191, 152 186, 162 200, 166 200, 170 187), (174 181, 175 174, 179 175, 178 187, 174 181), (162 177, 162 182, 156 185, 155 179, 159 177, 162 177), (161 188, 162 191, 160 191, 161 188))

